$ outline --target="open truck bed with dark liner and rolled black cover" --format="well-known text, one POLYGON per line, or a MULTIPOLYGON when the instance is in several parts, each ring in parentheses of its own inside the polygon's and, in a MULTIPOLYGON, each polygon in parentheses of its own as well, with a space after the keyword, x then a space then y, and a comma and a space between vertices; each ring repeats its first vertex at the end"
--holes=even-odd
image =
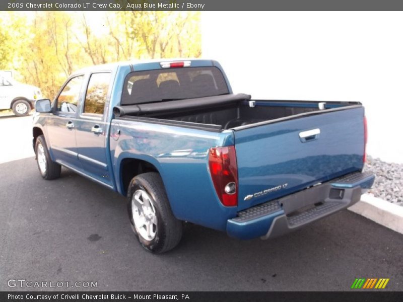
POLYGON ((238 94, 121 106, 118 107, 120 112, 115 110, 115 114, 119 112, 118 116, 142 121, 149 118, 150 122, 169 124, 172 121, 171 124, 179 126, 222 131, 240 130, 252 124, 258 126, 304 115, 348 109, 351 106, 360 107, 361 103, 251 100, 249 95, 238 94))

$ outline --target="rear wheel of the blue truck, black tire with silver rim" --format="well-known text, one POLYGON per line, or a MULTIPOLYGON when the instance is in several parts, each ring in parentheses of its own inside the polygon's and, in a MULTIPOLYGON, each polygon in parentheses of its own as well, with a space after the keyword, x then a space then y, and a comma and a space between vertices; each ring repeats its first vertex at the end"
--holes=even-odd
POLYGON ((133 178, 127 199, 131 229, 143 248, 159 254, 178 245, 182 238, 182 221, 173 215, 158 173, 149 172, 133 178))

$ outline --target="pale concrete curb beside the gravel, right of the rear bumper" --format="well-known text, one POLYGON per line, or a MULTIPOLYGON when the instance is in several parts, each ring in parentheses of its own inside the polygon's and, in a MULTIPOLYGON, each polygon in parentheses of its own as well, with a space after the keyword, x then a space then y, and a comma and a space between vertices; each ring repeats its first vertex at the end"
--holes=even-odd
POLYGON ((373 195, 363 194, 361 201, 348 209, 403 234, 403 206, 390 203, 373 195))

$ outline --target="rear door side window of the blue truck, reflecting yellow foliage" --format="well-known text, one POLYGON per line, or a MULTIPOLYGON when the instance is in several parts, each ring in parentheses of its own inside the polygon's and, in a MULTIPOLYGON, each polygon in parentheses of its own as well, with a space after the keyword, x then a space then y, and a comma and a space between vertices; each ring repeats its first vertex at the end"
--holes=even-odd
POLYGON ((103 114, 108 95, 110 72, 91 74, 85 96, 84 113, 103 114))

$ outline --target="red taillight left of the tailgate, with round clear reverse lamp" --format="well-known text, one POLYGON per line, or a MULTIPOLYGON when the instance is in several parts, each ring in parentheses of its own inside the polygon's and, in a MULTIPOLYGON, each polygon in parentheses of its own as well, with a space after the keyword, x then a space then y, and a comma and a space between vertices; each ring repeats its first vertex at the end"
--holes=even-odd
POLYGON ((235 146, 211 148, 209 168, 221 203, 225 206, 236 206, 238 204, 238 171, 235 146))

